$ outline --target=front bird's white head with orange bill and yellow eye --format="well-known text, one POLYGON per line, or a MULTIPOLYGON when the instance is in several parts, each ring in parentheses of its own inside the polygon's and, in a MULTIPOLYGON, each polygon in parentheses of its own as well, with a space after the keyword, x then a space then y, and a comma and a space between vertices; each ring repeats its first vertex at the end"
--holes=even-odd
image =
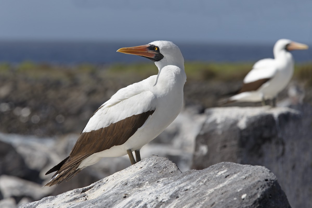
POLYGON ((182 53, 171 41, 153 41, 147 45, 120 48, 117 52, 143 56, 154 61, 158 68, 176 65, 184 70, 182 53))

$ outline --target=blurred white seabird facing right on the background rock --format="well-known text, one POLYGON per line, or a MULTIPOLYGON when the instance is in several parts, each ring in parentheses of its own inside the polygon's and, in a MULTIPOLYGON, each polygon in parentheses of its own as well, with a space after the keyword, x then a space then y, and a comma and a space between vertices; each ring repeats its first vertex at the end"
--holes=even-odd
POLYGON ((289 51, 305 50, 308 46, 288 39, 278 40, 273 48, 274 59, 267 58, 257 61, 252 70, 246 75, 243 86, 238 93, 225 101, 231 102, 260 102, 275 99, 289 83, 294 73, 294 59, 289 51))

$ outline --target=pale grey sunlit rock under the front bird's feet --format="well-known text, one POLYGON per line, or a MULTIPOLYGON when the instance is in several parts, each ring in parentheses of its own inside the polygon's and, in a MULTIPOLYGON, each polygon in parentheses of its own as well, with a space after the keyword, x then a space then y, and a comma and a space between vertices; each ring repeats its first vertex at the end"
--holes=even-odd
POLYGON ((261 166, 223 162, 181 172, 152 155, 90 186, 48 196, 33 207, 290 207, 276 177, 261 166))

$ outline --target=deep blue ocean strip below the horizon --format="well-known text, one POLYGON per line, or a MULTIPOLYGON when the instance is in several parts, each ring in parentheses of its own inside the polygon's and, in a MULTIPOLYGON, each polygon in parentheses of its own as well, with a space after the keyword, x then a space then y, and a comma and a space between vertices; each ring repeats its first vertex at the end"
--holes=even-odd
MULTIPOLYGON (((121 47, 146 42, 74 42, 74 41, 0 41, 0 62, 20 63, 30 60, 49 64, 111 64, 148 61, 139 56, 116 52, 121 47)), ((255 62, 273 58, 272 45, 201 44, 177 42, 185 61, 255 62)), ((293 51, 296 63, 312 61, 312 50, 293 51)))

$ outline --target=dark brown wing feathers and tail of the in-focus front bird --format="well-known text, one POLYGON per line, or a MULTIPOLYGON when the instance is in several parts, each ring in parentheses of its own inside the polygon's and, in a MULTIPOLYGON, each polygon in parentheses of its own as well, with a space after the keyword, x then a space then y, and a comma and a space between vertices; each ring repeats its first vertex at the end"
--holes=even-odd
POLYGON ((82 133, 70 155, 46 173, 49 174, 56 171, 52 180, 45 186, 53 186, 62 181, 70 180, 80 172, 80 169, 77 168, 83 159, 115 145, 124 144, 153 113, 154 110, 133 115, 112 123, 108 127, 82 133))

